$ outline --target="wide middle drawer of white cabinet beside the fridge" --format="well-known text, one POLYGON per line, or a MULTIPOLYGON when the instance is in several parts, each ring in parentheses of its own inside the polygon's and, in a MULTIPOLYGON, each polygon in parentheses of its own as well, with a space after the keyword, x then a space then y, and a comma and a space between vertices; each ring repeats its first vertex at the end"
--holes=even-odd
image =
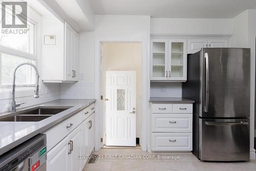
POLYGON ((153 132, 192 132, 192 114, 153 114, 153 132))

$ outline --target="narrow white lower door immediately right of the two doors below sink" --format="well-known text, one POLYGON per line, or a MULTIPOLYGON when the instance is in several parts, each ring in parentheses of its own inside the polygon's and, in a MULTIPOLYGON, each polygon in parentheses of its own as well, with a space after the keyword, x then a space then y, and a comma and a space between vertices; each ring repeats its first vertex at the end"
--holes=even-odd
POLYGON ((82 159, 82 167, 84 167, 89 159, 90 149, 89 149, 89 122, 88 120, 82 123, 82 155, 85 158, 82 159))

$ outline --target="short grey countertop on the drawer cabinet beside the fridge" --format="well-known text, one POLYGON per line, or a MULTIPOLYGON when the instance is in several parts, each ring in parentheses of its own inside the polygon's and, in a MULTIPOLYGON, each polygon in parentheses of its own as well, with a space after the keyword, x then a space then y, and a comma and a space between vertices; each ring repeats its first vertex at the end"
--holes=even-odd
POLYGON ((152 103, 194 103, 194 100, 189 100, 181 97, 151 97, 152 103))

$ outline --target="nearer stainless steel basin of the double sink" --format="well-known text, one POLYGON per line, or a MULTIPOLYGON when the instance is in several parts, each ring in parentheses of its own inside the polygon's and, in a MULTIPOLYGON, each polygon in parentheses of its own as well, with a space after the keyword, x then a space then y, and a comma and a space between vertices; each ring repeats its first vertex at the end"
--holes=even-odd
POLYGON ((15 115, 0 119, 0 122, 38 122, 53 115, 15 115))

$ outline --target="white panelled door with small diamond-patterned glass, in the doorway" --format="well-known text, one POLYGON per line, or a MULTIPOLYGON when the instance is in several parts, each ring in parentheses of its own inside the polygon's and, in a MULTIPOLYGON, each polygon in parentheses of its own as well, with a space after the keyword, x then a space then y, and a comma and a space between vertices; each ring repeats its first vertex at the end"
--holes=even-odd
POLYGON ((136 146, 136 72, 106 71, 106 145, 136 146))

